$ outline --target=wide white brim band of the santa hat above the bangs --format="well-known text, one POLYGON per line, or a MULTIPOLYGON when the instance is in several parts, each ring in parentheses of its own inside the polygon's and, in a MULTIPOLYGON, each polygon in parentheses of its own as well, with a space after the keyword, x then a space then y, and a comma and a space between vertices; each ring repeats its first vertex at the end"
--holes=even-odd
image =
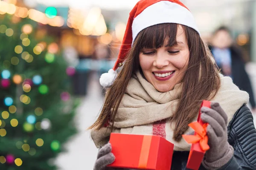
POLYGON ((160 1, 145 8, 132 23, 133 42, 145 28, 160 23, 177 23, 191 27, 200 34, 192 13, 185 7, 170 1, 160 1))

